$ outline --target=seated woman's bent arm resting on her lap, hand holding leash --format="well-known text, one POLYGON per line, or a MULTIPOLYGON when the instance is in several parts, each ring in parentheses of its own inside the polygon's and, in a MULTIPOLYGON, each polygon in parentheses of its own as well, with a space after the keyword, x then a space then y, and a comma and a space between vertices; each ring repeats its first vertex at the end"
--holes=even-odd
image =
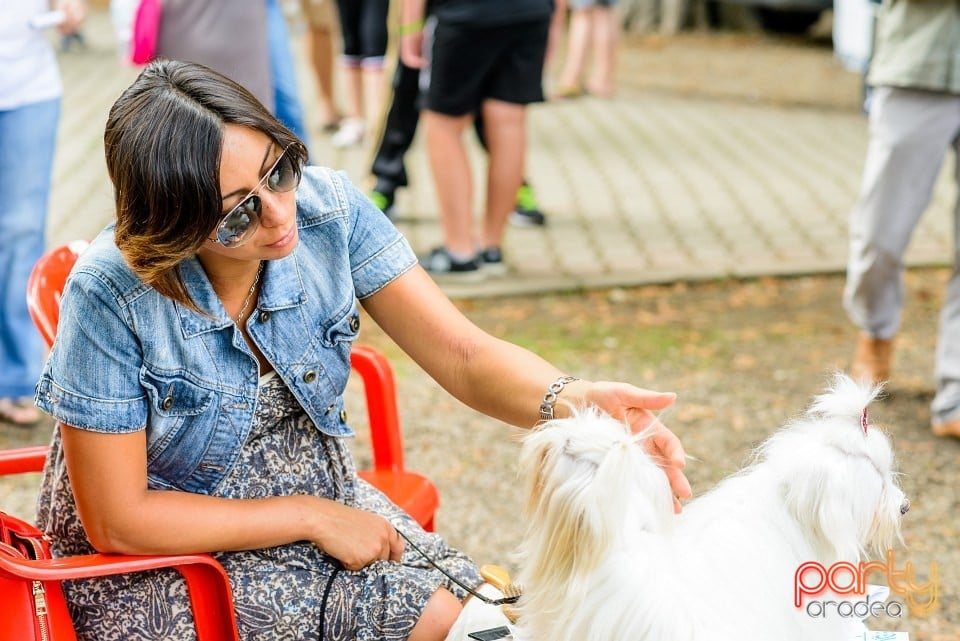
POLYGON ((70 485, 100 552, 177 554, 311 541, 350 570, 399 560, 385 519, 315 496, 226 499, 147 488, 144 431, 102 434, 60 425, 70 485))

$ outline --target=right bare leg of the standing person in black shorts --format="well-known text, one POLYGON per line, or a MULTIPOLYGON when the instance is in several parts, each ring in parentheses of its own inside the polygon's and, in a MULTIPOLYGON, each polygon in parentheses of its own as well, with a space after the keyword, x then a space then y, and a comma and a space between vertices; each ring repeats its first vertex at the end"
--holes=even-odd
POLYGON ((517 190, 523 183, 527 148, 526 107, 500 100, 482 106, 487 137, 487 202, 482 248, 500 247, 517 190))

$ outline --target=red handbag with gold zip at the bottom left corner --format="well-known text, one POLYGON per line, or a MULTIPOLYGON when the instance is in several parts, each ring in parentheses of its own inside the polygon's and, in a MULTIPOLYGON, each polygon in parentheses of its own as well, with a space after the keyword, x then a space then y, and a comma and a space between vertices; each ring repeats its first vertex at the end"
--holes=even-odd
MULTIPOLYGON (((50 559, 43 532, 0 512, 0 556, 15 560, 50 559)), ((2 570, 2 568, 0 568, 2 570)), ((38 581, 0 571, 0 639, 76 641, 58 581, 38 581)))

